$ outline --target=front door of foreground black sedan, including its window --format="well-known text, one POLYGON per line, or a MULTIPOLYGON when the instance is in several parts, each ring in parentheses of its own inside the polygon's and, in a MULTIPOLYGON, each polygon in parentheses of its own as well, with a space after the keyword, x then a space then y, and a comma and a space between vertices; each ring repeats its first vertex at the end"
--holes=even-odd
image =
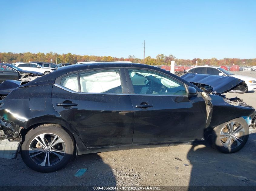
POLYGON ((127 69, 135 110, 133 144, 188 142, 203 137, 205 102, 188 99, 185 85, 161 72, 127 69))

